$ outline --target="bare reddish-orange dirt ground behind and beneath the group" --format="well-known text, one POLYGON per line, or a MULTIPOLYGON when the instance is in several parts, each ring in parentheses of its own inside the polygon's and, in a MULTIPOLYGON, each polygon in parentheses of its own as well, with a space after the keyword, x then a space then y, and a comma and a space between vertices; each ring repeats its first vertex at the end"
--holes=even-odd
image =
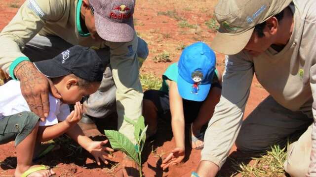
MULTIPOLYGON (((18 8, 14 8, 14 4, 18 6, 24 0, 2 0, 0 4, 0 29, 2 29, 11 18, 15 15, 18 8)), ((209 0, 211 1, 211 0, 209 0)), ((203 6, 211 6, 215 2, 206 2, 201 0, 203 6)), ((215 0, 216 1, 216 0, 215 0)), ((192 1, 190 1, 192 2, 192 1)), ((144 38, 149 44, 150 56, 145 61, 141 68, 141 73, 152 73, 160 77, 165 68, 170 63, 159 62, 155 63, 154 58, 162 51, 170 53, 172 62, 177 61, 181 50, 177 50, 177 46, 180 44, 189 45, 195 41, 203 40, 206 43, 210 43, 213 39, 214 32, 211 29, 207 29, 204 22, 211 18, 211 12, 213 8, 209 8, 207 11, 201 10, 200 6, 193 4, 190 8, 185 8, 186 3, 180 4, 179 2, 171 0, 170 4, 162 0, 138 0, 135 9, 134 18, 136 19, 135 28, 138 31, 138 35, 144 38), (182 5, 182 6, 181 6, 182 5), (167 10, 176 9, 184 19, 187 19, 190 24, 198 24, 197 29, 179 28, 178 21, 170 16, 158 15, 158 12, 166 12, 167 10), (203 13, 202 13, 203 12, 203 13)), ((193 2, 192 2, 193 3, 193 2)), ((197 3, 197 2, 195 2, 197 3)), ((224 56, 217 54, 217 65, 221 71, 224 70, 224 56)), ((254 78, 251 85, 251 93, 246 106, 245 118, 249 113, 268 95, 268 93, 258 84, 256 78, 254 78)), ((107 120, 109 122, 109 120, 107 120)), ((60 142, 61 144, 73 144, 71 142, 60 142)), ((159 168, 161 164, 161 158, 165 157, 175 145, 172 137, 172 130, 169 122, 159 122, 158 134, 152 142, 147 142, 144 156, 147 161, 143 165, 143 173, 146 177, 179 177, 189 176, 188 174, 196 169, 200 159, 200 150, 191 150, 189 142, 187 144, 187 156, 186 161, 176 167, 169 168, 169 171, 162 172, 159 168)), ((76 148, 61 147, 53 153, 48 154, 43 159, 39 160, 38 163, 50 165, 57 172, 58 176, 61 177, 96 177, 104 176, 111 177, 115 176, 114 171, 119 167, 121 160, 121 153, 115 152, 115 159, 112 165, 97 166, 96 163, 91 160, 91 157, 87 152, 81 152, 80 149, 76 148), (110 170, 113 168, 112 170, 110 170)), ((236 147, 234 146, 231 150, 230 157, 238 157, 236 147)), ((230 158, 228 162, 221 169, 219 176, 231 176, 236 173, 231 167, 232 161, 230 158)), ((8 177, 14 173, 16 165, 15 149, 13 142, 0 145, 0 176, 8 177)))

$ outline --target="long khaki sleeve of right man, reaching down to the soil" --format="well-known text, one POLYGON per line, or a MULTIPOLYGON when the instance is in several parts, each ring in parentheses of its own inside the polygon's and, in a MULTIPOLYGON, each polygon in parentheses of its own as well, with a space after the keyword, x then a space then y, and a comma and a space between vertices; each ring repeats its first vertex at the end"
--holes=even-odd
POLYGON ((240 129, 253 73, 253 63, 244 53, 226 56, 222 95, 205 132, 201 160, 220 168, 225 163, 240 129))

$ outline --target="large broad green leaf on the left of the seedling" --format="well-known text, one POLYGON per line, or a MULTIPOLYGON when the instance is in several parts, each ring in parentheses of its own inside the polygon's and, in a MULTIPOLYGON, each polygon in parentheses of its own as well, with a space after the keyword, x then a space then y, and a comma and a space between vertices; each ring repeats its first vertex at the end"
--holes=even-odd
POLYGON ((125 135, 115 130, 104 130, 104 133, 109 139, 112 148, 124 152, 135 162, 139 163, 135 146, 125 135))

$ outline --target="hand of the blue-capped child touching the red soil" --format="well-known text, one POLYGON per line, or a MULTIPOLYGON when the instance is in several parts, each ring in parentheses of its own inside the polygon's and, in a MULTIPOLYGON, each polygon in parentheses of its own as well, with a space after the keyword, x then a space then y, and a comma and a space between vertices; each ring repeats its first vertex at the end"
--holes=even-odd
POLYGON ((161 168, 167 169, 170 165, 176 165, 184 159, 185 148, 174 148, 172 152, 162 161, 161 168))

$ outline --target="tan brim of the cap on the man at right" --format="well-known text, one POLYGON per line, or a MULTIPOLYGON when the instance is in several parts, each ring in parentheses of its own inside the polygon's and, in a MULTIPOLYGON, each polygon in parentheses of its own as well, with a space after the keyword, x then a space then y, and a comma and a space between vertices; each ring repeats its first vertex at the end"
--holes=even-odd
POLYGON ((210 47, 222 54, 237 54, 245 48, 250 40, 253 30, 254 28, 248 29, 240 34, 222 33, 220 32, 221 30, 219 30, 210 44, 210 47))

